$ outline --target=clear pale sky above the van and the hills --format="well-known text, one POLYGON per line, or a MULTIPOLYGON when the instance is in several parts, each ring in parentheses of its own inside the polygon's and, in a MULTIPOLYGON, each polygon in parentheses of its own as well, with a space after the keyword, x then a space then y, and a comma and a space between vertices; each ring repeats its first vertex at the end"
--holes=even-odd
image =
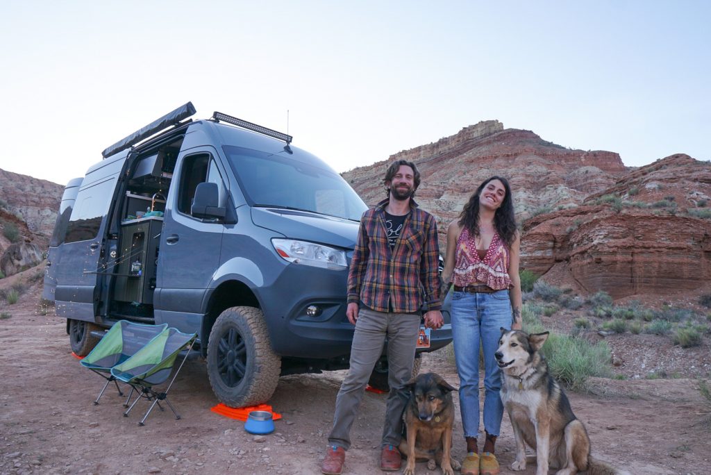
POLYGON ((185 102, 336 171, 481 120, 711 159, 711 1, 0 0, 0 168, 66 183, 185 102))

